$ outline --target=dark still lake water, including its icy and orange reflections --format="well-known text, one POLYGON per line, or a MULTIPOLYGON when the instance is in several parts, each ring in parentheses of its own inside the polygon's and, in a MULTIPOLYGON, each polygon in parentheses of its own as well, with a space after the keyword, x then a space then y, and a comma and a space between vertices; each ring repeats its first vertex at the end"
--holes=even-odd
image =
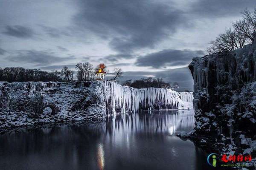
POLYGON ((194 111, 121 114, 97 123, 0 136, 0 170, 206 170, 207 154, 175 134, 194 111))

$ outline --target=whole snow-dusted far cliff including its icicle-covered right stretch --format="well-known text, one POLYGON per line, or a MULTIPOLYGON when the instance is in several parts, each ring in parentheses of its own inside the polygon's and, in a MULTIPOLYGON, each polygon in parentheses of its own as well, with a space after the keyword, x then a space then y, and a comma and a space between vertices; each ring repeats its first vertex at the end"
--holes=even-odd
POLYGON ((0 82, 0 133, 15 127, 99 120, 116 113, 192 108, 193 93, 115 81, 0 82))

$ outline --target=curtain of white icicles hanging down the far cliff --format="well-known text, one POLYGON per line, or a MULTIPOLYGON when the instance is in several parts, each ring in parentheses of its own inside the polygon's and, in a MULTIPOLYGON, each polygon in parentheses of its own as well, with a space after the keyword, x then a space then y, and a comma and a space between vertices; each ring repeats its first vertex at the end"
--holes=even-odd
POLYGON ((135 112, 153 106, 153 108, 159 109, 168 105, 178 109, 193 108, 192 92, 177 92, 166 88, 138 89, 119 85, 115 81, 98 81, 96 83, 102 85, 105 101, 107 105, 111 104, 113 114, 116 113, 116 108, 120 108, 121 113, 135 112))

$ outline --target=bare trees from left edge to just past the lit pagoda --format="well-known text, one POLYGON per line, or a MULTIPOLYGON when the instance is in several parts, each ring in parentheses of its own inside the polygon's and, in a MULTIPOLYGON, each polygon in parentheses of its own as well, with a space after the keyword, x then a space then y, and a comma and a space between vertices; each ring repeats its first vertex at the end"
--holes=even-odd
MULTIPOLYGON (((50 72, 42 71, 40 69, 29 69, 22 67, 6 67, 0 68, 0 81, 7 82, 28 82, 28 81, 65 81, 65 82, 74 82, 78 81, 87 81, 93 80, 96 76, 96 71, 99 71, 99 68, 105 72, 105 75, 109 73, 107 66, 104 63, 101 63, 93 68, 93 65, 89 62, 81 63, 79 62, 76 65, 75 70, 64 66, 61 71, 52 70, 50 72), (76 73, 76 75, 75 75, 76 73)), ((113 78, 111 80, 116 80, 122 77, 123 71, 121 68, 114 68, 111 73, 113 78)))

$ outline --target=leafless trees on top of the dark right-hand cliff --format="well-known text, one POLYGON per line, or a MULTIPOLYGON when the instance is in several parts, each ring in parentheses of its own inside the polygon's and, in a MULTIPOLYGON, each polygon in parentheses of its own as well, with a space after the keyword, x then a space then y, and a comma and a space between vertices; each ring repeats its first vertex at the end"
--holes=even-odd
POLYGON ((256 31, 256 8, 253 11, 244 9, 241 11, 242 19, 232 22, 232 27, 224 33, 218 34, 215 40, 209 42, 207 48, 209 54, 220 51, 232 51, 242 48, 254 41, 253 32, 256 31))

